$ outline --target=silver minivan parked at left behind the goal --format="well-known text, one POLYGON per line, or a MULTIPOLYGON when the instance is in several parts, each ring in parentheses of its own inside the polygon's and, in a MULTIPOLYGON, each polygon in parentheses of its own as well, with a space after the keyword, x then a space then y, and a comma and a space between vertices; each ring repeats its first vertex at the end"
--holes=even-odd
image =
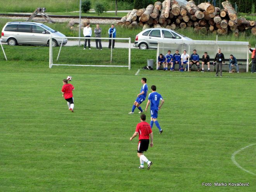
MULTIPOLYGON (((19 44, 28 45, 48 45, 50 37, 52 46, 61 45, 62 39, 65 37, 59 31, 38 22, 7 22, 2 29, 1 42, 14 46, 19 44)), ((63 39, 62 45, 66 45, 67 39, 63 39)))

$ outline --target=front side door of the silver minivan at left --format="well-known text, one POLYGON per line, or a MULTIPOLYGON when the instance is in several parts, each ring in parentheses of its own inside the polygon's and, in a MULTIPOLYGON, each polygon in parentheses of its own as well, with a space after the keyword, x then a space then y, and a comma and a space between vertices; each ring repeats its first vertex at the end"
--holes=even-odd
POLYGON ((33 44, 46 45, 49 39, 50 33, 40 26, 32 25, 31 40, 33 44))

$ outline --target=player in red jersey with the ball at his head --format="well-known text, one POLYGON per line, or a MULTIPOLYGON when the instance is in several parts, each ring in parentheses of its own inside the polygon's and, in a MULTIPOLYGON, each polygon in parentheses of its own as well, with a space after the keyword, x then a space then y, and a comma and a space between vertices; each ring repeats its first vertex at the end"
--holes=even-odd
POLYGON ((62 97, 66 99, 69 110, 74 112, 74 99, 73 99, 73 93, 72 93, 72 91, 74 90, 74 86, 71 85, 70 83, 67 83, 66 79, 64 79, 62 82, 63 82, 63 86, 61 89, 62 97))

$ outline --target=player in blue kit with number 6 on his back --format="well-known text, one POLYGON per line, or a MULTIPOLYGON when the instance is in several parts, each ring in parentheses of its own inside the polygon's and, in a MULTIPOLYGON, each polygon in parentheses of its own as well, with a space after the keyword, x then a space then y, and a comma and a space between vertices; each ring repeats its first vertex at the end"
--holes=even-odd
POLYGON ((161 107, 163 106, 164 100, 163 100, 163 97, 159 93, 156 92, 155 85, 151 86, 151 90, 152 90, 152 93, 149 93, 149 100, 147 102, 145 111, 147 111, 147 108, 149 107, 149 104, 150 104, 150 114, 151 114, 150 127, 152 129, 153 124, 155 123, 157 128, 159 129, 159 134, 161 134, 163 132, 163 130, 161 129, 161 127, 157 121, 157 113, 158 113, 158 110, 160 110, 161 107), (161 104, 159 106, 160 100, 161 100, 161 104))

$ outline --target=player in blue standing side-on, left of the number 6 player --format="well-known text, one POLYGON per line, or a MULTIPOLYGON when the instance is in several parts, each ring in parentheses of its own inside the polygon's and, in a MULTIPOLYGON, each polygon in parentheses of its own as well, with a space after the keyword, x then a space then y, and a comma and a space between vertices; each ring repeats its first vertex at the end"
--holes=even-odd
POLYGON ((142 110, 142 108, 140 107, 140 104, 146 99, 147 97, 147 79, 146 78, 142 78, 141 79, 141 83, 143 84, 141 89, 140 89, 140 93, 137 95, 137 99, 135 100, 135 102, 133 103, 133 106, 132 106, 132 109, 131 109, 131 112, 129 112, 128 114, 133 114, 134 113, 134 110, 136 107, 138 107, 138 109, 140 110, 139 113, 142 113, 144 112, 142 110))

